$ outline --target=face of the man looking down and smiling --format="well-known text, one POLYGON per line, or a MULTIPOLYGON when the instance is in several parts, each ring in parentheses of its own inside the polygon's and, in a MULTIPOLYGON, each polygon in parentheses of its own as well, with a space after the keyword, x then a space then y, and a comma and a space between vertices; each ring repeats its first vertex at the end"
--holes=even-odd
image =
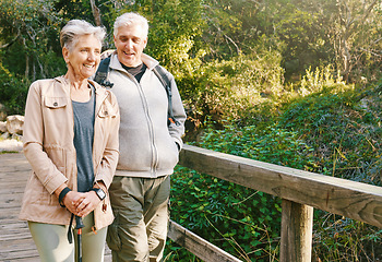
POLYGON ((118 60, 122 64, 135 68, 142 63, 142 52, 146 47, 147 36, 144 35, 141 25, 132 24, 119 27, 114 39, 118 60))

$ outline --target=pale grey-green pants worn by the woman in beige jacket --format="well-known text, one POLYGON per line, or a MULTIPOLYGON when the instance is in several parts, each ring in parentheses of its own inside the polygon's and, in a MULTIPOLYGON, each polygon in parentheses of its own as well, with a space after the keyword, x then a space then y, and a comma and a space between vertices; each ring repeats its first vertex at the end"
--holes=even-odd
MULTIPOLYGON (((105 252, 105 240, 107 228, 104 227, 94 234, 93 212, 83 218, 85 227, 82 229, 82 261, 103 262, 105 252)), ((74 262, 76 261, 75 243, 68 241, 68 227, 64 225, 52 225, 36 222, 28 222, 29 230, 35 241, 41 262, 74 262)))

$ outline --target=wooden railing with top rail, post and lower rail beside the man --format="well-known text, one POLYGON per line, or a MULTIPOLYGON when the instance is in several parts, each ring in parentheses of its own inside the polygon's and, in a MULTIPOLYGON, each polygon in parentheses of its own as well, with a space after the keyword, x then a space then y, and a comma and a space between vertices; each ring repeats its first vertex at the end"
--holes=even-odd
MULTIPOLYGON (((282 198, 282 262, 310 262, 313 207, 382 228, 382 188, 186 145, 179 165, 282 198)), ((240 261, 171 222, 169 238, 203 261, 240 261)))

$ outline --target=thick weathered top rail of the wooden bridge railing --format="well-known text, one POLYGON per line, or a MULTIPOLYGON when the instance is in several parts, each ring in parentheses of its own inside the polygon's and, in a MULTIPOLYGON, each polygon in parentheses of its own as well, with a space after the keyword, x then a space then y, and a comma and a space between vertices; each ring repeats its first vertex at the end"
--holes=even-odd
POLYGON ((282 199, 382 227, 381 187, 191 145, 184 145, 179 164, 282 199))

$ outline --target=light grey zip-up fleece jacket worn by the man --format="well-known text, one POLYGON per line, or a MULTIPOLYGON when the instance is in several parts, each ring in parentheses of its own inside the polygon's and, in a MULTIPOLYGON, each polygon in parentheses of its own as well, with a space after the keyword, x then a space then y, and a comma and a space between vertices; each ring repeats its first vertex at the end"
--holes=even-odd
POLYGON ((156 178, 174 172, 182 147, 186 112, 174 76, 167 72, 171 79, 174 116, 180 122, 167 126, 166 90, 153 71, 158 61, 144 53, 142 60, 147 69, 138 83, 122 68, 116 52, 110 58, 109 81, 114 83, 111 92, 121 116, 116 176, 156 178))

